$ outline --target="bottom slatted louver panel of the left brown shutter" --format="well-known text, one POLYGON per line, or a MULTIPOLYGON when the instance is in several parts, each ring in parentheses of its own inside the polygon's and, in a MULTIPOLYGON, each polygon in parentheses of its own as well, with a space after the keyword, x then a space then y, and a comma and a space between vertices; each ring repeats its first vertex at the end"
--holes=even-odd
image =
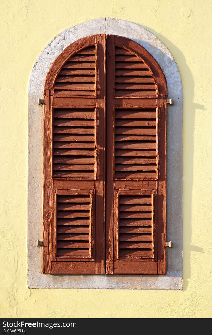
POLYGON ((56 256, 91 256, 92 195, 57 195, 56 256))

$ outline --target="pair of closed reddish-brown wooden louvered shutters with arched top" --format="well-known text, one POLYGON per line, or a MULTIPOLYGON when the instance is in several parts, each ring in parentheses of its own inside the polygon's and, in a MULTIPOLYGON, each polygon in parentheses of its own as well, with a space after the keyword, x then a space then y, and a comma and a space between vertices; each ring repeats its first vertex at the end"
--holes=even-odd
POLYGON ((166 273, 165 76, 140 45, 93 35, 44 87, 43 272, 166 273))

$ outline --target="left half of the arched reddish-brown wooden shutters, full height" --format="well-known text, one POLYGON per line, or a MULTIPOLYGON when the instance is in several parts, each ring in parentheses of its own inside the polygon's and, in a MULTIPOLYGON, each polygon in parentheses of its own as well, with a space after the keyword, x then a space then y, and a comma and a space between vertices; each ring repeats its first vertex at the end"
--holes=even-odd
POLYGON ((43 272, 104 273, 105 36, 67 47, 44 94, 43 272))

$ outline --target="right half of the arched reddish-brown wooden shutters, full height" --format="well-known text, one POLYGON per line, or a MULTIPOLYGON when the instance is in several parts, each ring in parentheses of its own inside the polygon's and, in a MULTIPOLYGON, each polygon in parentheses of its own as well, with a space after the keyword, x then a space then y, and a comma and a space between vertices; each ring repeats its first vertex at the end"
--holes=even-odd
POLYGON ((108 36, 106 273, 166 273, 166 95, 153 57, 108 36))

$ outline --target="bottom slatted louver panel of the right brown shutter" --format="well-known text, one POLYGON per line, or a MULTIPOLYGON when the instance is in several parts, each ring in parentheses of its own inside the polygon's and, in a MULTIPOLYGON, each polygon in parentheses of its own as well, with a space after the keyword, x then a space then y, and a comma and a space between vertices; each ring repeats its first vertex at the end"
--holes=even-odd
POLYGON ((119 196, 119 258, 153 257, 152 195, 119 196))

